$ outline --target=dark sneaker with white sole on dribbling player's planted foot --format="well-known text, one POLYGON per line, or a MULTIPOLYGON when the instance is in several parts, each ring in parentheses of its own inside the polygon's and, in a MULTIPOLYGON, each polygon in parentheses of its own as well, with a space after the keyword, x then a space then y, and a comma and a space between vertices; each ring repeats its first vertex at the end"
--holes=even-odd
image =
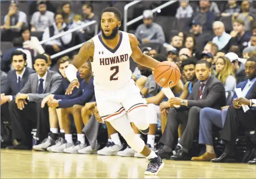
POLYGON ((151 158, 149 165, 147 165, 147 169, 145 171, 145 175, 157 175, 157 173, 163 168, 164 163, 160 156, 155 158, 151 158))

